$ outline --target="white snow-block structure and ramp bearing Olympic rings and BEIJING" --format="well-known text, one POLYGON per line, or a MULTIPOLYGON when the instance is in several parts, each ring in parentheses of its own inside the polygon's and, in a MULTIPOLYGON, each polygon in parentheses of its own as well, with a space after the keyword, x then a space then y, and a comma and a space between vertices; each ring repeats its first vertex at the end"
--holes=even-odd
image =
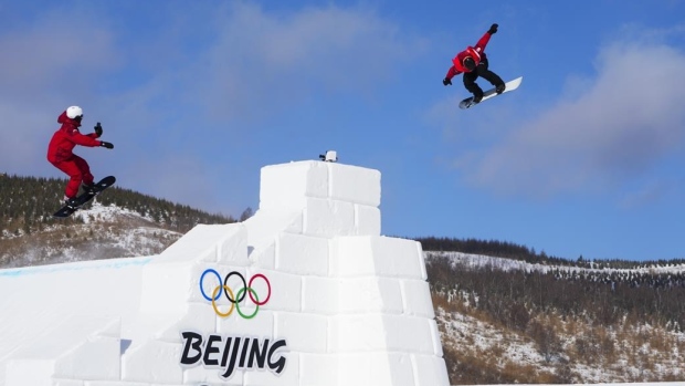
POLYGON ((0 386, 449 385, 380 173, 266 166, 260 208, 154 257, 0 271, 0 386))

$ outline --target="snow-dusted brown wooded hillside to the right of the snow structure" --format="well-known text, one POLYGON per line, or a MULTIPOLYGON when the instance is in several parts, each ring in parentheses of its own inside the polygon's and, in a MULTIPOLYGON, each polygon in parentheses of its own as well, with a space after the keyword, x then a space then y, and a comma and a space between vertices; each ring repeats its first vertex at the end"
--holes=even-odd
POLYGON ((451 270, 430 269, 436 274, 429 282, 445 358, 460 383, 685 379, 682 313, 673 321, 667 311, 682 309, 683 264, 616 270, 433 251, 425 259, 451 270), (472 270, 478 273, 465 273, 472 270), (520 286, 531 296, 512 298, 520 286), (591 307, 558 306, 559 289, 572 291, 567 302, 591 307), (610 322, 598 319, 598 304, 612 309, 604 313, 610 322))

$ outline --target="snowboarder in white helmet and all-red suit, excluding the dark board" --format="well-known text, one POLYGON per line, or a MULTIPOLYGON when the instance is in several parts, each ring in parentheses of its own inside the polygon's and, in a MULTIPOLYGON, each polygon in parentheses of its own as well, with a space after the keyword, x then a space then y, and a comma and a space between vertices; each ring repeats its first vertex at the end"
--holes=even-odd
POLYGON ((94 133, 86 135, 81 134, 78 127, 81 127, 82 119, 83 109, 81 107, 71 106, 66 108, 60 114, 60 117, 57 117, 57 123, 61 123, 62 127, 55 132, 48 146, 48 160, 57 169, 70 176, 70 180, 64 189, 64 201, 66 205, 75 202, 81 184, 83 184, 85 191, 93 189, 94 178, 91 174, 91 167, 85 159, 72 152, 74 147, 81 145, 88 147, 102 146, 108 149, 114 148, 114 145, 110 143, 96 139, 103 135, 103 127, 99 122, 95 125, 94 133))

